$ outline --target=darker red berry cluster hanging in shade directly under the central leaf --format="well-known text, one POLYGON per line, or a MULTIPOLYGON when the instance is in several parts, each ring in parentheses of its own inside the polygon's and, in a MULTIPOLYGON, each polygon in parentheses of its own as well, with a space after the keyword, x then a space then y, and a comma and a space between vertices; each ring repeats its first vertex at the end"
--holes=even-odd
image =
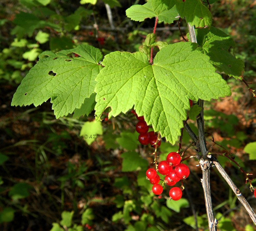
MULTIPOLYGON (((136 131, 139 133, 139 143, 142 145, 153 145, 155 148, 155 143, 157 141, 157 134, 154 131, 148 132, 148 125, 144 120, 144 116, 138 116, 135 111, 132 111, 132 113, 136 116, 136 118, 139 120, 139 122, 136 124, 136 131)), ((157 146, 159 147, 161 145, 161 140, 158 141, 157 146)))

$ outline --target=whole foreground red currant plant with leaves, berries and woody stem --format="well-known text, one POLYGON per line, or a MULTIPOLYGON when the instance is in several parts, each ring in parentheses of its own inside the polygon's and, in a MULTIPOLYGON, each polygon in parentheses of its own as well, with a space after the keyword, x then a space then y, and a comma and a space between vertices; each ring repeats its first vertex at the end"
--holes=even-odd
MULTIPOLYGON (((11 105, 38 106, 51 98, 57 119, 71 113, 80 114, 83 105, 92 101, 96 101, 94 109, 98 120, 108 107, 111 108, 109 117, 134 108, 139 118, 143 116, 145 120, 141 119, 136 126, 136 130, 143 134, 139 138, 143 144, 151 143, 145 135, 148 125, 159 132, 157 137, 153 137, 155 143, 160 134, 174 144, 181 136, 181 128, 189 129, 184 121, 187 120, 191 100, 198 101, 199 107, 195 109, 197 113, 201 110, 197 117, 199 137, 190 135, 202 155, 202 184, 206 185, 208 182, 204 183, 204 179, 209 179, 208 169, 212 162, 217 162, 207 156, 203 100, 231 95, 229 86, 216 70, 241 79, 244 64, 229 53, 229 48, 235 47, 235 43, 229 35, 211 25, 211 12, 200 0, 148 0, 144 5, 127 9, 126 15, 140 22, 155 18, 153 33, 146 36, 138 52, 111 52, 99 63, 101 51, 89 45, 60 52, 45 51, 17 88, 11 105), (167 44, 156 41, 158 21, 172 23, 178 17, 186 18, 189 42, 167 44), (153 51, 157 51, 155 57, 153 51)), ((83 114, 89 113, 88 110, 83 110, 83 114)), ((168 168, 161 162, 158 165, 159 172, 163 171, 169 184, 174 177, 173 167, 179 179, 189 175, 183 164, 176 164, 172 163, 173 166, 168 168)), ((162 186, 155 177, 148 177, 155 183, 152 190, 161 194, 162 186)), ((182 193, 175 188, 171 189, 170 197, 176 200, 182 193)), ((207 203, 208 194, 205 193, 207 203)), ((216 230, 213 213, 208 214, 209 228, 216 230)))

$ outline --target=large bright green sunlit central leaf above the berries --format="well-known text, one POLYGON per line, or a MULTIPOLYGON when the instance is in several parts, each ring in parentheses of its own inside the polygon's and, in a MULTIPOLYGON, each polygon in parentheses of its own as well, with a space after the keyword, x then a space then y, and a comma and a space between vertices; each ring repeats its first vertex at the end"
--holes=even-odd
POLYGON ((142 52, 106 55, 105 67, 96 77, 96 116, 107 107, 112 109, 109 116, 117 116, 134 106, 154 131, 175 143, 190 108, 189 99, 210 101, 231 94, 197 46, 189 42, 167 45, 156 54, 153 65, 142 52))

